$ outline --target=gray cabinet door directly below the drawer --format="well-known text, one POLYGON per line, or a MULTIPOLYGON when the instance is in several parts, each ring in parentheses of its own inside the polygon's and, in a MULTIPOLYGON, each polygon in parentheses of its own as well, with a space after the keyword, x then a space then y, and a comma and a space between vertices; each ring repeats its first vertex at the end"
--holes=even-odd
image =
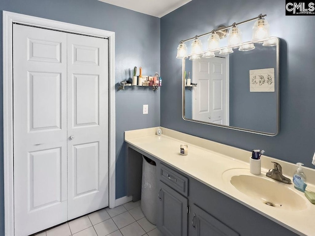
POLYGON ((187 236, 187 198, 161 181, 158 184, 158 229, 163 236, 187 236))

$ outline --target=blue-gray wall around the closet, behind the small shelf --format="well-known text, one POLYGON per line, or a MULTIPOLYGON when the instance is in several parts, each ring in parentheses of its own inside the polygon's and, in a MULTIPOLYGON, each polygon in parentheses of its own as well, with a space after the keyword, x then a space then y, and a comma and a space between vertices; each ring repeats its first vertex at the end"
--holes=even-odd
MULTIPOLYGON (((159 18, 97 0, 0 0, 1 80, 2 10, 114 31, 116 83, 127 79, 125 70, 133 69, 133 66, 142 66, 145 75, 160 72, 159 18)), ((160 125, 159 97, 162 89, 155 92, 150 88, 116 91, 116 198, 126 195, 124 131, 160 125), (148 115, 142 115, 143 104, 149 104, 148 115)), ((0 123, 2 117, 1 95, 0 123)), ((0 139, 0 163, 3 163, 2 135, 0 139)), ((3 165, 0 165, 0 235, 4 235, 3 165)))

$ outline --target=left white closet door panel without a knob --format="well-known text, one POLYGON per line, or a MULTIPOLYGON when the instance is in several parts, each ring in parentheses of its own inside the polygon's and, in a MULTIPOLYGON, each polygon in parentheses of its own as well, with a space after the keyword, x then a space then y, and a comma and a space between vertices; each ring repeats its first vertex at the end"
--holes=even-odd
POLYGON ((28 236, 67 221, 66 33, 13 27, 14 223, 28 236))

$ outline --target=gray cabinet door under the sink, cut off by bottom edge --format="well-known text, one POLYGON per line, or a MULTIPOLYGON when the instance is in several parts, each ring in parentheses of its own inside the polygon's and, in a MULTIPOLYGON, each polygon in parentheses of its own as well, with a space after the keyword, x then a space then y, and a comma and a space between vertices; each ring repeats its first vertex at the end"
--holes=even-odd
POLYGON ((239 236, 238 233, 194 204, 190 207, 190 212, 189 235, 191 236, 239 236))

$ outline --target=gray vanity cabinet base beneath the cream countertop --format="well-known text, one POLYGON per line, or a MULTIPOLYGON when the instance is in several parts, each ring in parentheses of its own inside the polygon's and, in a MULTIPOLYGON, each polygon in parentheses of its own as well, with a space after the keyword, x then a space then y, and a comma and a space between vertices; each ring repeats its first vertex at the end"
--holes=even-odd
POLYGON ((141 154, 156 161, 157 226, 163 236, 297 236, 268 217, 161 163, 154 156, 132 148, 134 150, 128 148, 128 158, 132 160, 128 168, 132 170, 128 174, 128 195, 133 195, 133 201, 140 200, 141 154))

